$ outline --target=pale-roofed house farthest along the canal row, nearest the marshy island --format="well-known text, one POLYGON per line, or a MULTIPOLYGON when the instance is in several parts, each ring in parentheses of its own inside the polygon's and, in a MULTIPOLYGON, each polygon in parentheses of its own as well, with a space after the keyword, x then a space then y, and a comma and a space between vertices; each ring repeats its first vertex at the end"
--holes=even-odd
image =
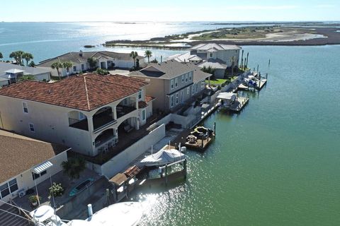
POLYGON ((181 63, 190 62, 197 64, 200 68, 210 66, 215 69, 216 78, 223 78, 225 69, 232 66, 232 59, 235 67, 239 64, 240 49, 242 48, 234 44, 197 44, 190 48, 190 52, 177 54, 168 59, 181 63))

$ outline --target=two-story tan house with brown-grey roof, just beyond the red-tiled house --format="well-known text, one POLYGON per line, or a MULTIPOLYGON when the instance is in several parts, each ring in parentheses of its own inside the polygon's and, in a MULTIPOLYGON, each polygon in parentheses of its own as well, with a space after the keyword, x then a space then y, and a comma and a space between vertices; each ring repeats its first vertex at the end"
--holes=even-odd
POLYGON ((148 82, 147 95, 157 97, 154 110, 169 112, 188 100, 195 101, 205 90, 205 79, 211 76, 195 64, 182 64, 170 60, 159 64, 149 64, 145 69, 133 71, 130 76, 148 82))

